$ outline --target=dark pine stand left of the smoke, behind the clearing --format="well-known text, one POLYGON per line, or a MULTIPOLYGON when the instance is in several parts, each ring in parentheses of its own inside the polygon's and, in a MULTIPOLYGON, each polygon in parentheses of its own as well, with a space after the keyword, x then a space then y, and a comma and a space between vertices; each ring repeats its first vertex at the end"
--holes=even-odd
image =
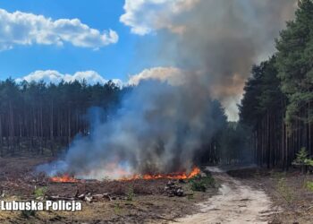
POLYGON ((0 82, 0 156, 45 150, 55 154, 76 134, 89 134, 89 108, 108 114, 124 91, 114 82, 0 82))

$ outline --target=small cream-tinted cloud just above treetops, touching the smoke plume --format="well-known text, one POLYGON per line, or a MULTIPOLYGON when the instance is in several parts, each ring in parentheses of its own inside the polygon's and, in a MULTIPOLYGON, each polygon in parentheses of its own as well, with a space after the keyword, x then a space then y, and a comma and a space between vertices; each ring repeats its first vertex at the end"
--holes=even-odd
POLYGON ((143 80, 158 80, 171 85, 181 85, 184 82, 182 70, 175 67, 153 67, 131 75, 128 84, 138 85, 143 80))

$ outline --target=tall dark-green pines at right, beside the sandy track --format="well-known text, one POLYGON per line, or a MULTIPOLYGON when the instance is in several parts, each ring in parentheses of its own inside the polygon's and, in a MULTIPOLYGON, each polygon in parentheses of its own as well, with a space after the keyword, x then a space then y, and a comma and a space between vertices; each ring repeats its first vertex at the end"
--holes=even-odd
POLYGON ((241 100, 254 159, 268 168, 290 167, 302 147, 313 156, 313 1, 298 4, 275 55, 253 67, 241 100))

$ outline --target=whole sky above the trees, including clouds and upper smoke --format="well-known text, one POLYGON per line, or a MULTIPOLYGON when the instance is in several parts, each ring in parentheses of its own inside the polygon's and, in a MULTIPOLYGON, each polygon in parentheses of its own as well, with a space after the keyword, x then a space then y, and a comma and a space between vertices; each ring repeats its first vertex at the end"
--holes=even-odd
POLYGON ((234 12, 242 11, 242 18, 234 21, 237 28, 245 21, 247 28, 241 30, 224 24, 229 21, 229 12, 224 12, 227 0, 217 5, 206 0, 2 0, 0 80, 114 80, 123 85, 155 79, 177 84, 186 71, 194 70, 189 75, 201 73, 226 112, 236 114, 250 75, 245 71, 254 63, 247 62, 273 52, 273 30, 278 34, 295 9, 295 0, 264 1, 244 1, 250 7, 232 4, 234 12), (275 18, 269 30, 267 14, 275 18), (216 22, 222 22, 222 29, 216 30, 216 22), (220 39, 224 33, 233 42, 220 39), (224 54, 233 50, 229 43, 237 43, 238 37, 250 49, 248 57, 224 54), (233 66, 227 79, 218 66, 223 61, 233 66))

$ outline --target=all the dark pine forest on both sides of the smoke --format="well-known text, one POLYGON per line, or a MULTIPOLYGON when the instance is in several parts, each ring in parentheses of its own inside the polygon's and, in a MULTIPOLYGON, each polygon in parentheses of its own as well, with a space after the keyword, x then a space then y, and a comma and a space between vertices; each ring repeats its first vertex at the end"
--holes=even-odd
MULTIPOLYGON (((300 149, 313 156, 312 11, 312 1, 301 1, 295 19, 275 39, 275 54, 253 65, 239 122, 227 122, 220 102, 211 102, 223 124, 199 160, 289 168, 300 149)), ((133 88, 114 82, 0 82, 0 156, 55 156, 75 136, 89 134, 92 108, 101 108, 106 119, 133 88)))

